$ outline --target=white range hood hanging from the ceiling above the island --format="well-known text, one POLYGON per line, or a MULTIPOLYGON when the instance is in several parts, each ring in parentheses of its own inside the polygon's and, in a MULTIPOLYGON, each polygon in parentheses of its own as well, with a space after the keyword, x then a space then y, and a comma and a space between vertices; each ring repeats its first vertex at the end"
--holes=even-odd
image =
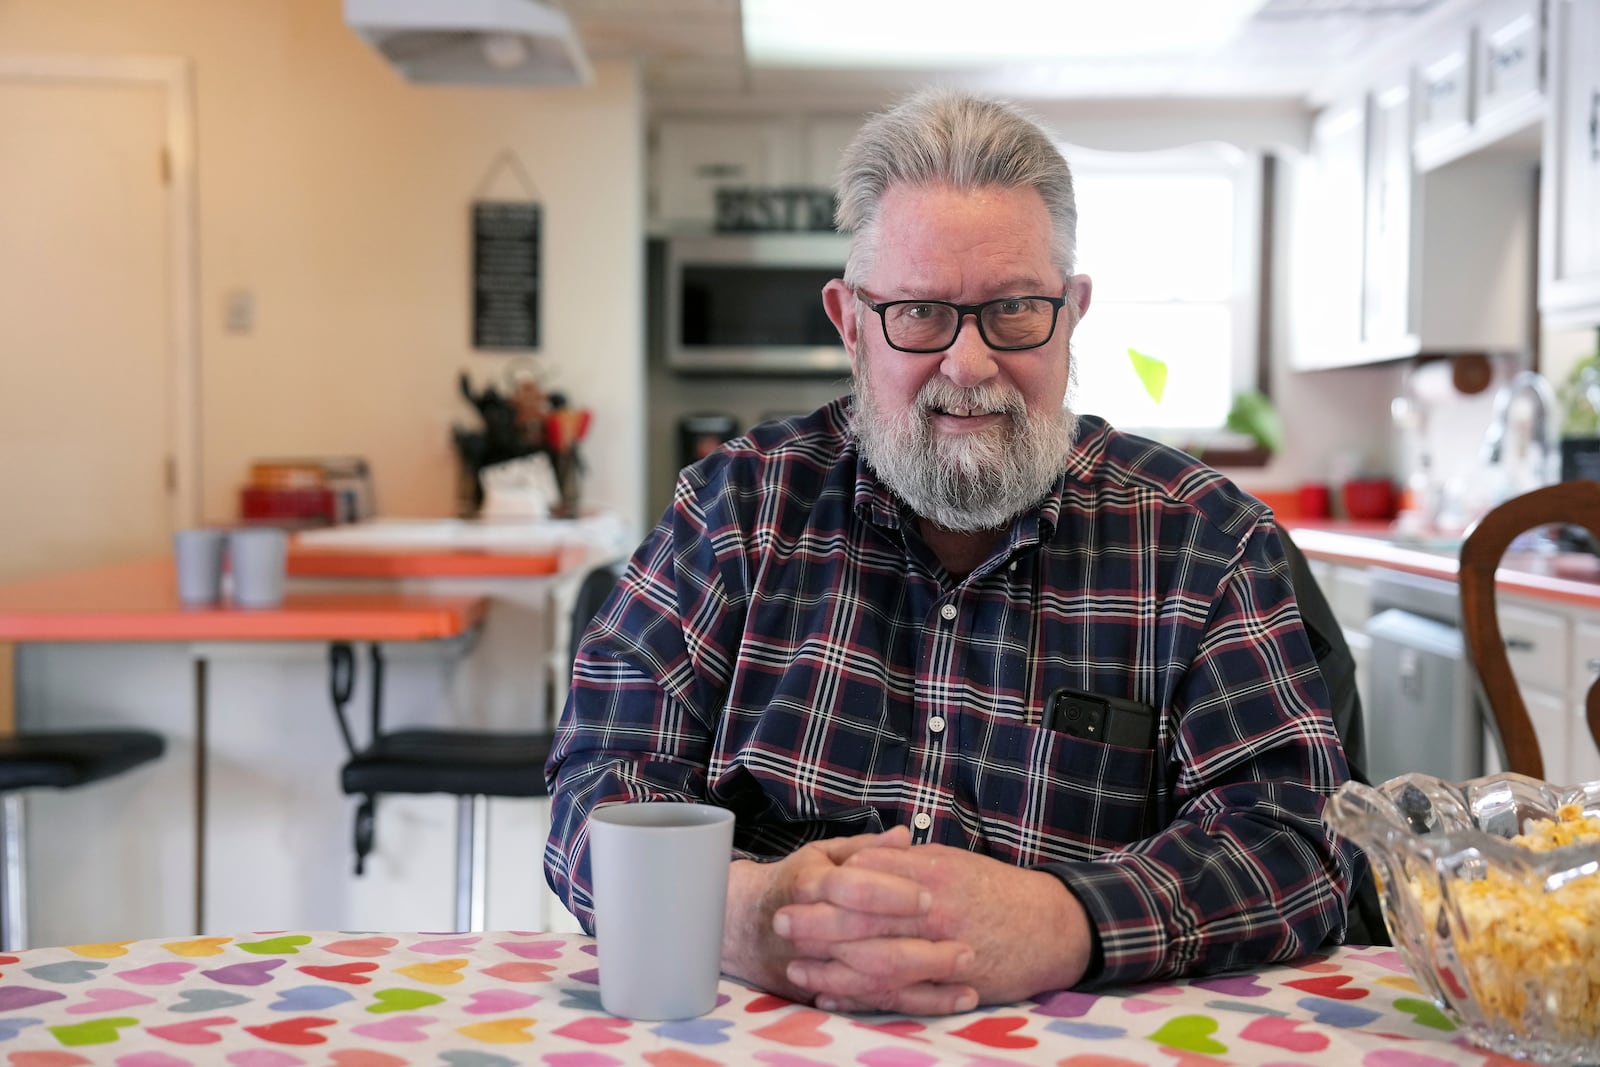
POLYGON ((344 0, 344 21, 408 82, 586 85, 589 58, 542 0, 344 0))

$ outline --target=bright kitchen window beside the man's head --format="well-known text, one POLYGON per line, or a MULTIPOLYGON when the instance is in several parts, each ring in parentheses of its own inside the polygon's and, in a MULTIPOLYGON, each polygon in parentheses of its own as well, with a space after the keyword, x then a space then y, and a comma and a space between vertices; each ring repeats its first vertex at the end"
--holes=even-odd
POLYGON ((1226 144, 1162 152, 1064 146, 1078 270, 1094 278, 1074 334, 1075 410, 1198 448, 1227 446, 1234 397, 1261 389, 1261 162, 1226 144), (1166 365, 1160 402, 1128 349, 1166 365))

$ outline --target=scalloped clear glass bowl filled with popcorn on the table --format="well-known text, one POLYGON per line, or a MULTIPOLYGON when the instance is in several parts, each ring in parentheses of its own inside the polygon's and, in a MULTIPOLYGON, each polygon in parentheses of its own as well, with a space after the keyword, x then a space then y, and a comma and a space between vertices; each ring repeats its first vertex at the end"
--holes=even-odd
POLYGON ((1600 840, 1536 851, 1509 838, 1566 805, 1600 816, 1600 782, 1403 774, 1347 782, 1323 809, 1371 861, 1422 989, 1475 1045, 1555 1067, 1600 1064, 1600 840))

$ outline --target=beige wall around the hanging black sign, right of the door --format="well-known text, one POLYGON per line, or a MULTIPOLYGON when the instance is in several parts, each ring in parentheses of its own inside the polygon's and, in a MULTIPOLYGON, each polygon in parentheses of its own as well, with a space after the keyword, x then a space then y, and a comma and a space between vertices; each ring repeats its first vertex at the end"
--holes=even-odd
MULTIPOLYGON (((469 203, 544 205, 541 350, 595 413, 587 499, 642 518, 643 101, 632 67, 574 90, 402 82, 338 0, 3 0, 0 54, 179 56, 197 98, 203 510, 251 458, 365 454, 389 515, 446 515, 456 390, 510 357, 470 347, 469 203), (230 293, 256 323, 229 333, 230 293)), ((0 278, 3 283, 3 278, 0 278)))

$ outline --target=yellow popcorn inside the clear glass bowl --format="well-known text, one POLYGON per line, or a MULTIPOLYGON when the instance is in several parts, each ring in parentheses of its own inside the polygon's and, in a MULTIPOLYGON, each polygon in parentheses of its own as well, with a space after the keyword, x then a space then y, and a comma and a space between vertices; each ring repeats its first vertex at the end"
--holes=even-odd
MULTIPOLYGON (((1578 805, 1563 805, 1555 819, 1531 819, 1509 838, 1533 853, 1597 841, 1600 817, 1578 805)), ((1411 888, 1438 926, 1445 902, 1437 881, 1414 878, 1411 888)), ((1485 1016, 1520 1029, 1534 1008, 1563 1038, 1600 1037, 1600 878, 1547 888, 1490 867, 1483 878, 1453 880, 1450 896, 1461 965, 1485 1016)))

